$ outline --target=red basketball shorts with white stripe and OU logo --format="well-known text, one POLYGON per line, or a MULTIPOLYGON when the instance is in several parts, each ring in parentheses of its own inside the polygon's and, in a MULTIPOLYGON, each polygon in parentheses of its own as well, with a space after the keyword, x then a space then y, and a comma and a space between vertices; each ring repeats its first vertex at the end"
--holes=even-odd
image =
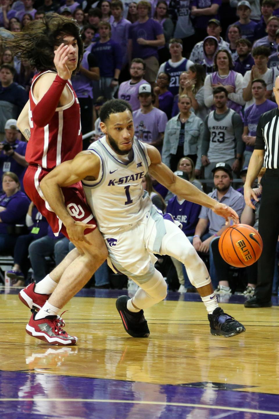
MULTIPOLYGON (((41 167, 28 166, 23 178, 24 190, 31 201, 36 205, 38 211, 46 217, 54 235, 58 236, 61 232, 68 237, 66 227, 62 224, 62 221, 57 217, 55 212, 52 211, 48 202, 44 199, 43 192, 40 188, 40 182, 47 173, 49 172, 41 167)), ((96 220, 92 215, 92 211, 87 205, 81 182, 77 182, 67 188, 62 188, 62 193, 64 195, 65 207, 67 207, 69 214, 75 221, 97 225, 96 220)), ((84 234, 90 233, 90 231, 92 231, 92 229, 84 230, 84 234)))

